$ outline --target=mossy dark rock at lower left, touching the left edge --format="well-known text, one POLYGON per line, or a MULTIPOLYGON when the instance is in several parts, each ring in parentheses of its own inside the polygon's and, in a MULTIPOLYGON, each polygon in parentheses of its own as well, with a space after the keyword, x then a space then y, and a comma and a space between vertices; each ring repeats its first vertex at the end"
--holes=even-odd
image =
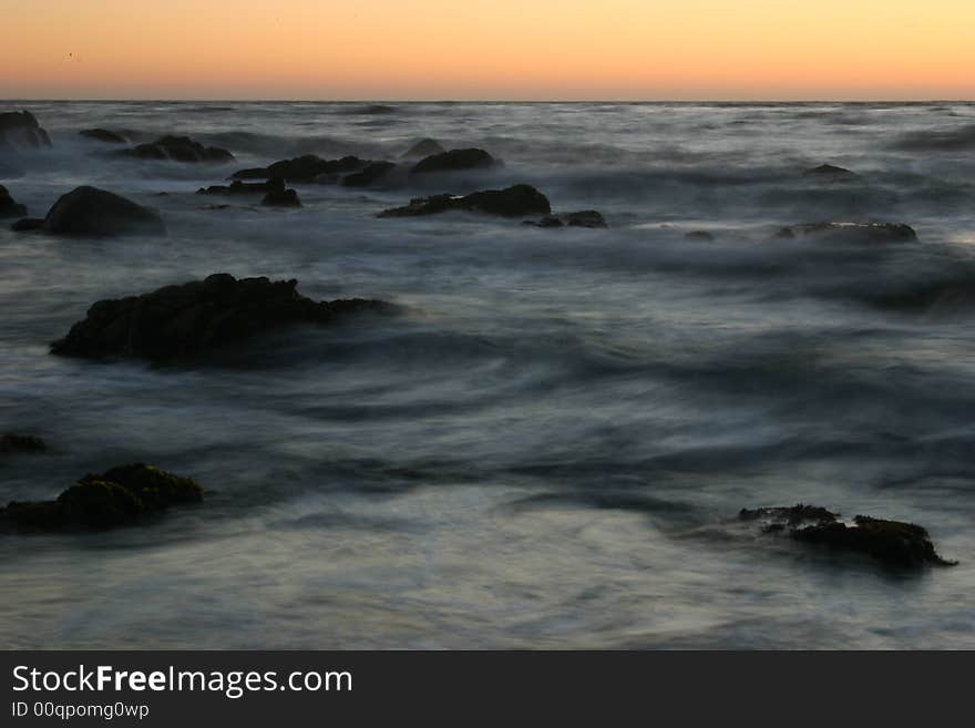
POLYGON ((199 503, 203 496, 195 480, 133 463, 85 475, 54 501, 12 501, 0 507, 0 524, 40 531, 111 529, 172 505, 199 503))

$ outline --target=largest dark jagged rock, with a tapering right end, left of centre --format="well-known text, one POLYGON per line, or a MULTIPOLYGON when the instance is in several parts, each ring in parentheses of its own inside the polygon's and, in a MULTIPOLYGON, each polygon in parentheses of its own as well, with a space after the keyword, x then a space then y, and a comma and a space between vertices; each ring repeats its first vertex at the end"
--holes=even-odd
POLYGON ((297 324, 331 324, 360 311, 394 312, 384 301, 352 298, 316 303, 296 290, 297 280, 205 280, 166 286, 142 296, 101 300, 66 337, 51 345, 60 356, 174 360, 247 340, 297 324))

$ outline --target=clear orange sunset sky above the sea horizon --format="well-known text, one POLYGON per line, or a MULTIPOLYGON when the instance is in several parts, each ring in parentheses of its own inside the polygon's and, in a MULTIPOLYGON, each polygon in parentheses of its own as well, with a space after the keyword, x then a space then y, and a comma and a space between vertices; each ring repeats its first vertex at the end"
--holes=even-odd
POLYGON ((975 99, 975 0, 0 0, 6 99, 975 99))

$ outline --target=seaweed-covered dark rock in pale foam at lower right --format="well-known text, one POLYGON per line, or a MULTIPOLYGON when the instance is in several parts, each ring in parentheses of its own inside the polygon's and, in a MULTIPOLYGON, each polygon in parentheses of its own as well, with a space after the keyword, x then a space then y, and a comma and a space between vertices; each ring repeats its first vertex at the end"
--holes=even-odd
POLYGON ((742 509, 739 519, 762 521, 766 533, 784 533, 802 543, 869 555, 892 567, 956 563, 942 558, 927 531, 913 523, 858 515, 849 524, 840 520, 839 513, 802 503, 792 507, 742 509))

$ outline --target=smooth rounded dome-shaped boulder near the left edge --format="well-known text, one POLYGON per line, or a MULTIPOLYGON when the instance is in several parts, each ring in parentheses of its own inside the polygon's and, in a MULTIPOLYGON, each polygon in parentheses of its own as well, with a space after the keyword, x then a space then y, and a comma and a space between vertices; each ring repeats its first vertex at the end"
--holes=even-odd
POLYGON ((54 235, 166 234, 166 226, 155 209, 86 186, 62 195, 40 225, 34 219, 22 219, 13 229, 22 232, 39 227, 54 235))

